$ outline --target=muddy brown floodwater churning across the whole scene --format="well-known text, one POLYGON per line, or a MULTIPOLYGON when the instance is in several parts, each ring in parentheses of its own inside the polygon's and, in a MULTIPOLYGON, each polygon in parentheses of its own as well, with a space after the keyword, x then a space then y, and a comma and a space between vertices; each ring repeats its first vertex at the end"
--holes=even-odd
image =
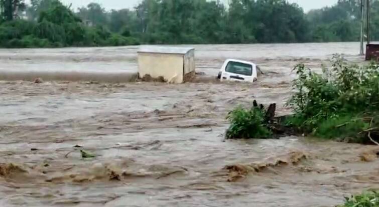
POLYGON ((180 85, 126 81, 138 47, 0 50, 0 206, 321 207, 379 188, 376 146, 223 139, 233 107, 290 113, 293 66, 317 70, 333 53, 361 62, 358 43, 194 47, 205 75, 180 85), (217 83, 226 58, 265 74, 217 83), (18 80, 36 76, 61 80, 18 80))

